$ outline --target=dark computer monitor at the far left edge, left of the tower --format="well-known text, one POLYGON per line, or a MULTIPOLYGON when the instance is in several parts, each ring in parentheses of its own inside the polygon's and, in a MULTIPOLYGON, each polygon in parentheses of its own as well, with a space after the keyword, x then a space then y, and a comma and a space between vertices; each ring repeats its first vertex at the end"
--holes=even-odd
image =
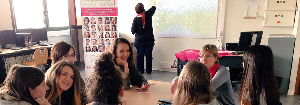
POLYGON ((9 49, 6 47, 7 44, 15 44, 15 31, 14 30, 3 30, 0 31, 0 49, 9 49))

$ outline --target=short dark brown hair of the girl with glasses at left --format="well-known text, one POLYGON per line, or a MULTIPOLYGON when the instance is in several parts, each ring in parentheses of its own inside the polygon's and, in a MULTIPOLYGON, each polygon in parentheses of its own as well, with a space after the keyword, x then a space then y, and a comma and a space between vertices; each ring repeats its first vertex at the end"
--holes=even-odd
POLYGON ((75 52, 75 47, 72 46, 71 44, 68 44, 67 42, 65 41, 59 41, 59 42, 56 42, 52 48, 51 48, 51 51, 50 51, 50 55, 51 55, 51 60, 52 60, 52 64, 55 64, 56 62, 60 61, 61 60, 61 57, 63 55, 66 55, 68 54, 68 52, 70 51, 70 48, 73 49, 74 51, 74 55, 76 55, 76 52, 75 52))

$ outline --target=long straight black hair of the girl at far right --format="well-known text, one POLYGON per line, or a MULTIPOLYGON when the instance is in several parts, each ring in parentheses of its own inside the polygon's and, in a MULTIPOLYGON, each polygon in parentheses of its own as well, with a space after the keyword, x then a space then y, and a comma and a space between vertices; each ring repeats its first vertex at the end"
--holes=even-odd
POLYGON ((268 105, 278 105, 280 100, 279 88, 274 75, 273 53, 270 47, 263 45, 250 46, 245 49, 244 73, 238 91, 239 102, 258 105, 261 94, 265 96, 268 105), (249 93, 247 93, 249 91, 249 93))

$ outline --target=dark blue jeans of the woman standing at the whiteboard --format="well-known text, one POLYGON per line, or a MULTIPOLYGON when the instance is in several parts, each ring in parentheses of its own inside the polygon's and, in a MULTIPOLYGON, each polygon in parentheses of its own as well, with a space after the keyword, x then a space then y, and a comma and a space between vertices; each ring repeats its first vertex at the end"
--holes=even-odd
POLYGON ((140 70, 140 73, 144 73, 144 57, 146 55, 146 72, 152 72, 152 51, 153 51, 154 42, 149 45, 137 47, 137 69, 140 70))

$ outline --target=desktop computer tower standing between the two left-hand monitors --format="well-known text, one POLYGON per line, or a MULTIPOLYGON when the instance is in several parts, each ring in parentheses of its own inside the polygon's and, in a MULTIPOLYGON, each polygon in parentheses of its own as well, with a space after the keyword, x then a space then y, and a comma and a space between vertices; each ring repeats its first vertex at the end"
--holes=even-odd
POLYGON ((16 46, 28 47, 28 35, 25 33, 16 33, 15 34, 16 46))

